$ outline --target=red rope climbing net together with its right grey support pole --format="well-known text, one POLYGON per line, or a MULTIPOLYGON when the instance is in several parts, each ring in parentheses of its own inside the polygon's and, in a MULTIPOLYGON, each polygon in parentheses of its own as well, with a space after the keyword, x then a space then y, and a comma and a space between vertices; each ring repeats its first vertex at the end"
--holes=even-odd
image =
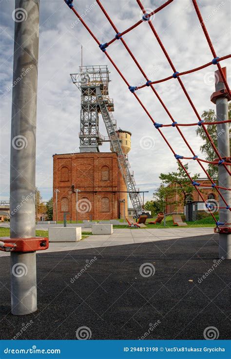
MULTIPOLYGON (((116 36, 115 38, 113 38, 112 40, 105 42, 105 43, 100 43, 99 40, 97 40, 96 36, 93 34, 93 32, 90 30, 90 28, 88 27, 88 25, 85 23, 85 21, 81 18, 81 16, 78 14, 77 10, 74 8, 73 5, 73 0, 64 0, 66 2, 66 4, 70 7, 70 9, 76 14, 77 18, 81 21, 81 23, 83 24, 83 26, 87 29, 87 31, 90 33, 90 35, 93 37, 93 39, 96 41, 96 43, 98 44, 100 50, 105 54, 105 56, 110 60, 110 62, 113 64, 113 66, 115 67, 116 71, 118 72, 118 74, 121 76, 121 78, 124 80, 124 82, 126 83, 128 89, 131 91, 131 93, 135 96, 136 100, 140 103, 140 105, 142 106, 142 108, 144 109, 144 111, 146 112, 146 114, 148 115, 148 117, 150 118, 150 120, 153 122, 154 127, 156 128, 156 130, 159 132, 159 134, 162 136, 163 140, 165 140, 165 142, 168 144, 170 150, 173 153, 174 158, 179 162, 180 166, 183 168, 183 170, 185 171, 185 173, 187 174, 189 180, 191 181, 192 185, 195 187, 195 190, 198 193, 198 196, 202 199, 202 201, 204 201, 205 205, 207 206, 212 218, 215 221, 216 224, 216 229, 215 231, 218 231, 221 235, 224 234, 224 236, 220 236, 220 240, 219 240, 219 256, 224 257, 226 259, 231 259, 231 227, 229 227, 231 225, 231 205, 230 205, 230 193, 228 191, 231 190, 231 186, 230 186, 230 175, 231 175, 231 171, 229 169, 229 161, 226 161, 225 159, 222 158, 221 155, 221 139, 220 143, 218 143, 218 149, 216 148, 216 146, 214 145, 212 138, 206 128, 207 125, 211 125, 211 124, 216 124, 216 125, 222 125, 223 130, 225 131, 225 138, 226 138, 226 144, 224 146, 225 149, 225 157, 229 158, 230 157, 230 150, 228 148, 228 134, 229 134, 229 122, 231 122, 230 120, 228 120, 228 100, 231 100, 231 92, 230 92, 230 88, 228 85, 228 82, 226 80, 226 74, 225 74, 225 70, 221 68, 220 62, 222 60, 231 58, 231 55, 227 55, 227 56, 223 56, 223 57, 218 57, 216 55, 216 52, 214 50, 214 47, 212 45, 212 41, 209 37, 208 31, 206 29, 205 23, 202 19, 202 16, 200 14, 200 10, 198 8, 197 2, 196 0, 192 0, 193 2, 193 6, 195 8, 197 17, 200 21, 202 30, 204 32, 204 35, 206 37, 206 40, 209 44, 209 47, 211 49, 212 52, 212 56, 213 59, 210 62, 207 62, 206 64, 193 68, 192 70, 189 71, 184 71, 184 72, 178 72, 176 70, 176 68, 173 65, 173 61, 171 60, 164 44, 162 43, 162 41, 160 40, 154 25, 151 21, 151 17, 152 15, 156 14, 157 12, 159 12, 160 10, 162 10, 164 7, 168 6, 169 4, 171 4, 173 2, 173 0, 168 0, 166 1, 164 4, 162 4, 161 6, 159 6, 157 9, 155 9, 154 11, 152 11, 151 13, 147 13, 145 11, 145 8, 142 5, 142 2, 140 0, 136 0, 141 11, 143 12, 143 16, 142 19, 137 21, 133 26, 129 27, 127 30, 123 31, 123 32, 119 32, 118 29, 116 28, 116 25, 114 24, 114 22, 112 21, 112 19, 110 18, 110 16, 108 15, 107 11, 105 10, 105 8, 103 7, 103 5, 101 4, 101 2, 99 0, 96 0, 97 4, 99 5, 99 7, 101 8, 101 10, 103 11, 104 15, 106 16, 106 18, 108 19, 108 21, 110 22, 110 24, 112 25, 113 29, 116 32, 116 36), (144 70, 142 69, 142 67, 140 66, 139 62, 135 59, 135 56, 133 55, 132 51, 130 50, 130 48, 128 47, 127 43, 125 42, 125 40, 123 39, 123 35, 127 34, 129 31, 133 30, 135 27, 139 26, 141 23, 146 23, 149 25, 151 31, 154 34, 155 39, 157 40, 157 42, 159 43, 166 59, 168 60, 172 70, 173 70, 173 75, 161 79, 161 80, 157 80, 157 81, 152 81, 149 80, 148 76, 145 74, 144 70), (142 86, 134 86, 134 85, 130 85, 130 83, 126 80, 126 78, 124 77, 124 75, 121 73, 121 71, 119 70, 119 68, 116 66, 116 63, 112 60, 112 58, 110 57, 110 55, 108 54, 108 52, 106 51, 107 48, 113 44, 113 42, 115 42, 116 40, 120 40, 122 42, 122 44, 124 45, 124 47, 126 48, 126 50, 128 51, 129 55, 132 57, 132 59, 135 61, 136 66, 138 67, 138 69, 140 70, 140 72, 142 73, 142 75, 144 76, 146 83, 142 86), (193 104, 192 99, 190 98, 190 95, 188 94, 183 81, 181 80, 181 77, 183 75, 186 74, 190 74, 193 73, 195 71, 199 71, 203 68, 206 68, 210 65, 216 65, 219 71, 219 78, 220 78, 220 83, 222 83, 222 89, 218 90, 218 94, 216 94, 215 99, 216 101, 219 101, 221 96, 222 96, 222 101, 220 101, 219 103, 222 103, 220 105, 220 108, 223 107, 223 115, 220 113, 217 113, 217 121, 214 122, 206 122, 201 120, 200 115, 198 114, 195 105, 193 104), (195 114, 195 116, 197 117, 198 121, 195 123, 177 123, 177 121, 175 121, 173 119, 173 116, 171 115, 170 111, 168 110, 167 106, 164 104, 163 100, 161 99, 161 97, 159 96, 159 94, 157 93, 156 89, 154 88, 154 84, 156 83, 160 83, 160 82, 164 82, 164 81, 168 81, 168 80, 172 80, 172 79, 176 79, 187 100, 189 101, 193 112, 195 114), (157 123, 153 117, 151 116, 151 114, 149 113, 149 111, 146 109, 146 107, 144 106, 144 104, 142 103, 142 101, 139 99, 139 97, 136 95, 136 91, 144 88, 144 87, 150 87, 151 90, 153 91, 154 95, 157 97, 157 99, 160 101, 161 105, 163 106, 163 108, 165 109, 166 113, 168 114, 169 118, 171 119, 172 123, 171 124, 162 124, 162 123, 157 123), (165 135, 163 134, 161 128, 163 127, 173 127, 176 129, 176 131, 178 131, 178 133, 180 134, 180 136, 182 137, 182 139, 184 140, 185 144, 187 145, 187 147, 189 148, 190 152, 192 153, 192 157, 185 157, 182 155, 178 155, 174 150, 173 147, 171 146, 171 144, 169 143, 169 141, 166 139, 165 135), (211 142, 211 146, 214 150, 214 152, 216 153, 217 157, 218 157, 218 161, 206 161, 206 160, 202 160, 199 159, 198 156, 194 153, 193 148, 191 147, 191 145, 189 144, 189 142, 186 140, 185 136, 183 135, 180 126, 202 126, 203 130, 205 131, 208 139, 211 142), (201 167, 201 169, 205 172, 206 176, 208 177, 208 179, 211 181, 211 186, 208 185, 208 187, 212 187, 215 188, 215 190, 217 191, 217 193, 220 196, 220 203, 222 205, 220 205, 220 209, 225 209, 227 211, 226 216, 223 216, 222 213, 220 213, 221 218, 225 218, 225 221, 217 221, 216 218, 214 217, 212 210, 210 208, 210 204, 206 203, 205 199, 202 196, 202 193, 200 192, 200 190, 198 189, 199 187, 199 183, 197 183, 196 181, 193 181, 192 177, 190 176, 189 172, 187 171, 186 167, 184 166, 184 164, 182 163, 181 160, 186 159, 186 160, 195 160, 197 161, 197 163, 199 164, 199 166, 201 167), (221 176, 223 173, 225 173, 225 171, 227 172, 226 175, 222 176, 223 178, 223 182, 221 180, 219 180, 219 184, 214 183, 212 177, 209 175, 208 171, 206 170, 206 168, 203 165, 203 162, 206 163, 212 163, 212 164, 217 164, 220 167, 223 168, 222 171, 219 171, 219 176, 221 176), (229 175, 229 176, 228 176, 229 175), (226 196, 224 196, 224 192, 221 191, 227 191, 226 192, 226 196)), ((217 86, 220 87, 220 85, 217 86)), ((217 105, 217 109, 218 109, 218 105, 217 105)), ((218 139, 219 140, 219 139, 218 139)))

